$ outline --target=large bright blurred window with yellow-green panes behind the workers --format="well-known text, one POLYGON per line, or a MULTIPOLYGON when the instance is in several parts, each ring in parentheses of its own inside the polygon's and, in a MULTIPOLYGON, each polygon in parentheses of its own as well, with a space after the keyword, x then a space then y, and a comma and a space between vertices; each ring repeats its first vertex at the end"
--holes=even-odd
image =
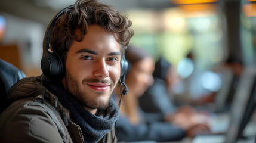
POLYGON ((217 1, 172 2, 174 7, 161 10, 128 11, 135 30, 131 44, 147 49, 155 60, 164 55, 175 66, 191 51, 197 68, 223 61, 227 49, 217 1))

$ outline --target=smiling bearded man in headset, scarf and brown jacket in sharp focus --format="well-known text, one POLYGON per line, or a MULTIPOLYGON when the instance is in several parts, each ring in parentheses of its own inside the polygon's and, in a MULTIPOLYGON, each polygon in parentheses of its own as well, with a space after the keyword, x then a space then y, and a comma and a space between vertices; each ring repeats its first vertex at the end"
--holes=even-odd
POLYGON ((131 21, 97 0, 78 0, 56 17, 45 33, 43 74, 9 90, 0 142, 116 142, 112 92, 131 21))

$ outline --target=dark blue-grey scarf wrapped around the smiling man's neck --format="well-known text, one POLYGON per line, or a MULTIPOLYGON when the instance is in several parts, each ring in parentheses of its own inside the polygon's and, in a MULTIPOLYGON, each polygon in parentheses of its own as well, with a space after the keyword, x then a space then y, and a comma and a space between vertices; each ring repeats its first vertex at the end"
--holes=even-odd
POLYGON ((42 84, 69 110, 70 119, 81 127, 85 142, 98 142, 114 128, 119 111, 112 99, 106 110, 98 110, 94 115, 66 91, 61 81, 55 82, 42 75, 42 84))

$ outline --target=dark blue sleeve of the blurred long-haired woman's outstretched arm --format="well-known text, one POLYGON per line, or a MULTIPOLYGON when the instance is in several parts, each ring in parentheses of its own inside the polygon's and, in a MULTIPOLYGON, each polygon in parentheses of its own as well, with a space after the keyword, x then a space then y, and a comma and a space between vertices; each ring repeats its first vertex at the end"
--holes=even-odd
POLYGON ((184 138, 184 130, 175 128, 166 122, 150 122, 132 125, 124 116, 116 122, 116 136, 118 141, 147 141, 157 142, 175 141, 184 138))

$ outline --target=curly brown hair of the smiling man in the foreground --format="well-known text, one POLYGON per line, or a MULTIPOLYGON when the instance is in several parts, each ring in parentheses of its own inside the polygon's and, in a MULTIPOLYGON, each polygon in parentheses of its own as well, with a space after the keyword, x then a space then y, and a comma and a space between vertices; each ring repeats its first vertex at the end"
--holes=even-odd
POLYGON ((98 0, 77 0, 75 6, 67 9, 55 23, 50 36, 51 50, 60 55, 66 63, 67 52, 72 41, 82 41, 88 26, 97 24, 104 30, 118 34, 121 53, 124 55, 129 40, 134 35, 128 15, 121 15, 110 5, 101 4, 98 0), (78 36, 78 29, 82 36, 78 36))

